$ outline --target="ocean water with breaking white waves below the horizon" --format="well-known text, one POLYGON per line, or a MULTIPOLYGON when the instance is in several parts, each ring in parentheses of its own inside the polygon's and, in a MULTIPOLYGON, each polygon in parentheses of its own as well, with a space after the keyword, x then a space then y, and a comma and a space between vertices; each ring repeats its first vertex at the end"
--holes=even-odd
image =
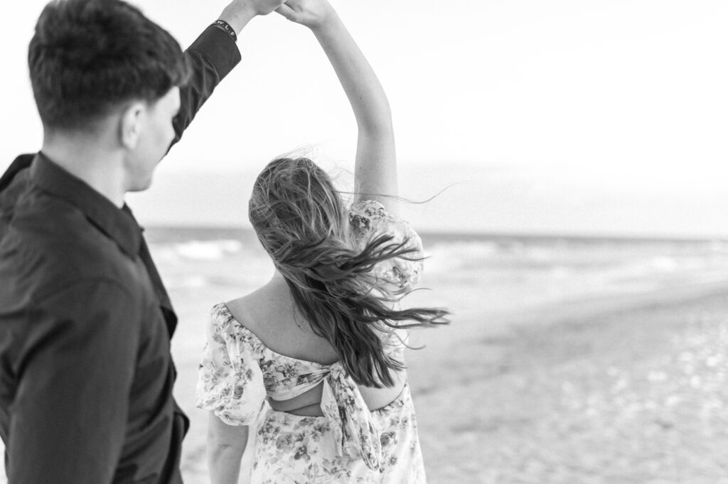
MULTIPOLYGON (((443 300, 467 314, 728 279, 728 241, 722 239, 421 236, 427 255, 422 285, 431 291, 412 298, 443 300)), ((242 295, 273 271, 249 229, 151 228, 146 237, 173 293, 217 288, 242 295)))

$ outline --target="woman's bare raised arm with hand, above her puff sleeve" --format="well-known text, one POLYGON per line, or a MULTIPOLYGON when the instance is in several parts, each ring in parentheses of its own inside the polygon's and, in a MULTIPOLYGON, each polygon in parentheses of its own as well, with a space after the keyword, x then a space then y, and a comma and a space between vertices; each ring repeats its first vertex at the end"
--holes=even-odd
POLYGON ((355 201, 377 200, 397 213, 392 112, 379 79, 327 0, 288 0, 277 12, 311 29, 352 105, 358 128, 355 201))

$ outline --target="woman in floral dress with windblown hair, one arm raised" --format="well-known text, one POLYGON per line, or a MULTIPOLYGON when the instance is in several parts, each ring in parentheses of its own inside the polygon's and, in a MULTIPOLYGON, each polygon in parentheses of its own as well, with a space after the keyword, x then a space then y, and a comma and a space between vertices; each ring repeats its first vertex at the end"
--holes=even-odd
POLYGON ((213 308, 197 386, 210 410, 210 477, 238 482, 252 426, 252 483, 424 483, 403 352, 408 328, 445 324, 447 313, 399 305, 423 255, 397 216, 389 103, 328 1, 278 12, 314 33, 352 105, 355 196, 347 208, 305 158, 258 175, 250 222, 275 272, 213 308))

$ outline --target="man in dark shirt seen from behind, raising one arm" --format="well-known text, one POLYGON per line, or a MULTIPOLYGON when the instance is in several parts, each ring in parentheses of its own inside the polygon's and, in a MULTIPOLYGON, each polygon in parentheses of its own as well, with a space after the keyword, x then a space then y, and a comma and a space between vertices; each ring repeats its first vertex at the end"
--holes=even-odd
POLYGON ((11 484, 181 483, 177 318, 124 195, 282 0, 234 0, 182 52, 122 0, 54 0, 28 52, 38 154, 0 178, 0 437, 11 484))

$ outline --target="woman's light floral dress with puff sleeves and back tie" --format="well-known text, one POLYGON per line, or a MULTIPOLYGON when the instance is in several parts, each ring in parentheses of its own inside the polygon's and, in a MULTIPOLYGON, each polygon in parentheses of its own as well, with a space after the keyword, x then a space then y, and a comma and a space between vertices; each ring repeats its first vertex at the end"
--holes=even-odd
MULTIPOLYGON (((422 257, 422 242, 408 223, 378 202, 352 207, 349 223, 360 248, 373 235, 406 241, 422 257)), ((419 280, 422 261, 396 258, 373 269, 396 290, 419 280)), ((385 347, 401 357, 406 338, 396 330, 385 347)), ((213 307, 199 365, 197 406, 229 425, 257 428, 253 484, 424 484, 424 464, 409 387, 389 405, 368 410, 340 362, 321 365, 268 349, 230 314, 213 307), (323 416, 273 410, 266 399, 288 400, 323 384, 323 416)))

